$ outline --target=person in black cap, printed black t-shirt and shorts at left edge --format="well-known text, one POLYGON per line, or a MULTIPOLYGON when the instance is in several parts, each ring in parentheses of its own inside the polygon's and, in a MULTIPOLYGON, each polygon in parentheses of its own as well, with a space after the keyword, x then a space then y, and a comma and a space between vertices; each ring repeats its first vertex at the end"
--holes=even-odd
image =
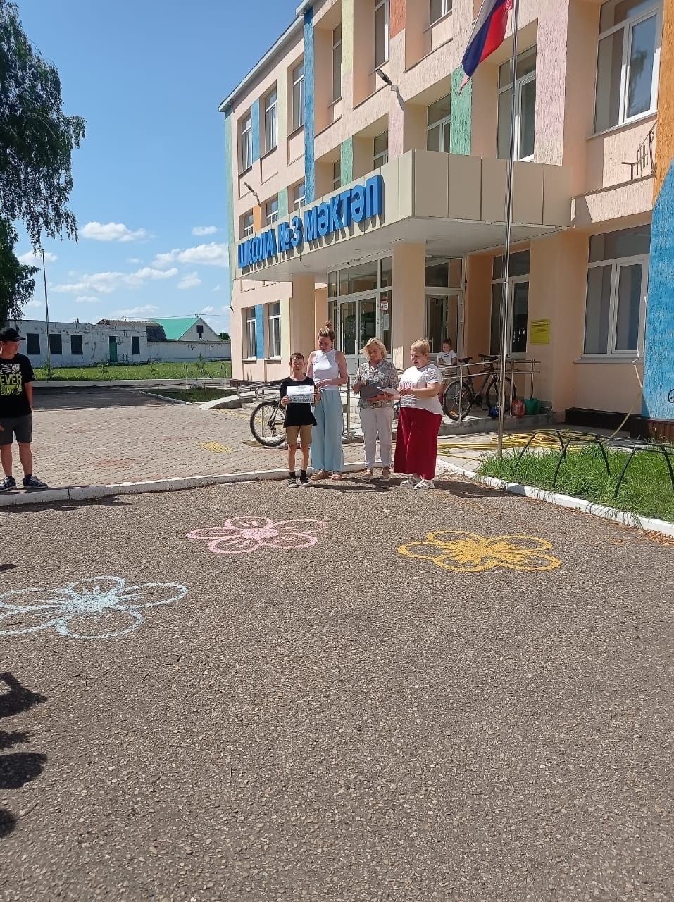
POLYGON ((23 466, 24 489, 46 489, 32 474, 32 383, 31 361, 19 354, 21 336, 12 327, 0 329, 0 460, 5 479, 0 492, 16 488, 12 475, 12 442, 16 436, 23 466))

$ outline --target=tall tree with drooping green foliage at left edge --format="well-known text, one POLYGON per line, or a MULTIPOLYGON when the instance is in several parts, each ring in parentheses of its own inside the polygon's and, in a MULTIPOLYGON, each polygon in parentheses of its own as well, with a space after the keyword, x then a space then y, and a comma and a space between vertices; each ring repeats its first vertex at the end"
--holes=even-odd
POLYGON ((42 235, 77 241, 70 166, 85 121, 65 115, 62 104, 59 72, 33 48, 16 4, 0 0, 0 322, 20 317, 37 272, 14 254, 14 223, 34 251, 42 235))

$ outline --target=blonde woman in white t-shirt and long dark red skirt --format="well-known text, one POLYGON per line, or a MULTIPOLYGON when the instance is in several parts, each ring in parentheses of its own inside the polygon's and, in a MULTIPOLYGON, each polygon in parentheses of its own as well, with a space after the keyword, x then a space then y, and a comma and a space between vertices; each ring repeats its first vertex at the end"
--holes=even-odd
POLYGON ((412 366, 400 377, 400 415, 396 438, 396 473, 408 474, 402 483, 414 489, 433 489, 442 405, 438 392, 442 376, 429 364, 430 345, 424 338, 411 347, 412 366))

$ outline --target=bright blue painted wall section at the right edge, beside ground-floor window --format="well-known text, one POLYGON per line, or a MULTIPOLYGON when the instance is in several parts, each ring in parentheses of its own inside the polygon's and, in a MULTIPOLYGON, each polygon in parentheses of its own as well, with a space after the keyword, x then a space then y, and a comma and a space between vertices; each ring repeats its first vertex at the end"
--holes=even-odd
POLYGON ((643 363, 643 416, 674 420, 674 162, 653 207, 643 363))

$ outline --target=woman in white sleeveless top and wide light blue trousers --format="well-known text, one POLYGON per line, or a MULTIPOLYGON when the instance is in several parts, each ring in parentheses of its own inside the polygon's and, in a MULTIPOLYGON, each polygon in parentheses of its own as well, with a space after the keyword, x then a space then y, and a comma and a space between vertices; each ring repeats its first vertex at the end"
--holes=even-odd
POLYGON ((316 479, 330 478, 333 483, 342 479, 344 451, 342 435, 344 414, 342 411, 342 391, 348 373, 346 357, 334 347, 332 323, 325 323, 318 333, 318 350, 309 354, 306 375, 314 380, 321 392, 321 402, 316 405, 314 434, 311 444, 311 465, 316 479))

